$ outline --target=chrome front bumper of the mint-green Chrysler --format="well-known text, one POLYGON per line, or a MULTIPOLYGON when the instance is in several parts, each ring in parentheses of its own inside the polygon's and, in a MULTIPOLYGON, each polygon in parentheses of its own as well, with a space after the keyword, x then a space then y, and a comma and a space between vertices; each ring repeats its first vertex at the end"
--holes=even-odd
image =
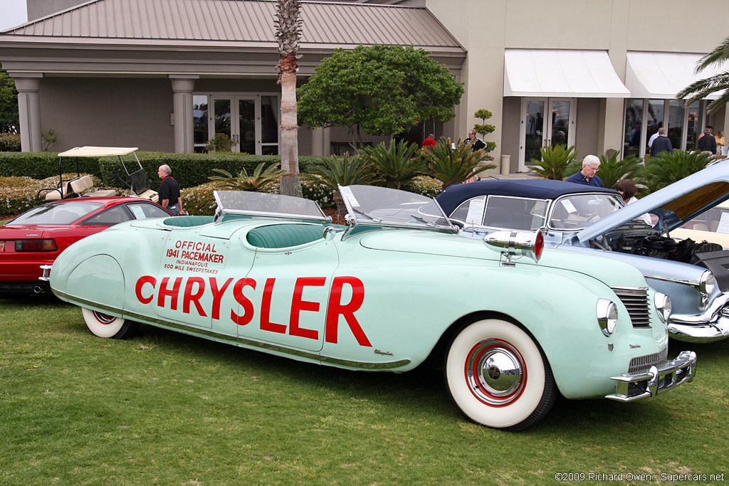
POLYGON ((634 401, 656 396, 682 383, 693 380, 696 373, 696 353, 681 351, 679 356, 662 364, 660 368, 650 367, 647 372, 635 375, 620 375, 610 378, 615 380, 615 393, 606 395, 606 399, 617 401, 634 401))

